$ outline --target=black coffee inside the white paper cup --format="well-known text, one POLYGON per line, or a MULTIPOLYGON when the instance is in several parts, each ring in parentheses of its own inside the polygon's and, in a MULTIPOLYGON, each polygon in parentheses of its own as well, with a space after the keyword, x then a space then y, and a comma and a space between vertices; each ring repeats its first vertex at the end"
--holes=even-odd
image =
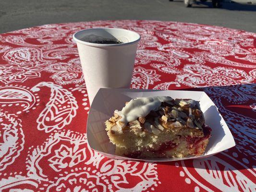
POLYGON ((122 41, 116 39, 116 38, 106 38, 102 36, 96 36, 96 35, 88 35, 81 38, 82 41, 86 41, 89 43, 98 43, 98 44, 121 44, 122 41))

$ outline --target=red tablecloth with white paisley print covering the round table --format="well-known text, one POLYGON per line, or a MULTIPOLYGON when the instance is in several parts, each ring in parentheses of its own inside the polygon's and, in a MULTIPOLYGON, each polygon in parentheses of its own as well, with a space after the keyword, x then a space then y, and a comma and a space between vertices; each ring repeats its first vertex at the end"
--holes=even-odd
POLYGON ((255 191, 255 63, 256 34, 200 24, 96 21, 1 34, 0 191, 255 191), (72 35, 91 27, 138 32, 131 88, 204 90, 236 146, 168 163, 112 160, 90 150, 72 35))

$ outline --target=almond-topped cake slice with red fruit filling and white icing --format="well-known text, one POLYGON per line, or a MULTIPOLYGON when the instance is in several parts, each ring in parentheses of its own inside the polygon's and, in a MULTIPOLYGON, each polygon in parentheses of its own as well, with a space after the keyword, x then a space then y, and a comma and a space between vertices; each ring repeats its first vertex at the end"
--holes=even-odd
POLYGON ((198 101, 169 96, 132 99, 105 122, 116 154, 132 158, 200 156, 211 132, 204 123, 198 101))

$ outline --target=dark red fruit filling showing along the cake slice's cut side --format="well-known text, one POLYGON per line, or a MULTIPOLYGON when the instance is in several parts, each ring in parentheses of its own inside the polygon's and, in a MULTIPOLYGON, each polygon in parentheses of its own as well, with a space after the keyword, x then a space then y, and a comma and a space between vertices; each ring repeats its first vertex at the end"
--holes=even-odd
MULTIPOLYGON (((210 138, 210 136, 211 136, 211 128, 209 128, 208 126, 203 126, 203 132, 204 132, 204 136, 203 137, 190 137, 189 136, 189 137, 185 138, 187 143, 188 143, 188 148, 192 148, 193 146, 196 146, 196 145, 200 144, 202 141, 210 138)), ((145 149, 145 150, 149 151, 149 152, 151 152, 153 154, 157 153, 157 154, 162 154, 164 156, 165 155, 165 151, 170 151, 170 150, 174 149, 177 146, 178 145, 176 143, 173 143, 173 142, 169 141, 169 142, 162 143, 160 145, 160 147, 158 148, 158 150, 154 150, 152 148, 145 149)), ((200 146, 197 146, 197 147, 199 148, 200 146)), ((203 147, 203 144, 202 144, 201 147, 203 147)), ((196 150, 196 152, 195 152, 196 154, 197 154, 197 151, 198 150, 196 150)), ((137 158, 138 156, 141 155, 141 153, 142 153, 142 151, 135 151, 133 153, 124 154, 124 156, 130 157, 130 158, 137 158)))

